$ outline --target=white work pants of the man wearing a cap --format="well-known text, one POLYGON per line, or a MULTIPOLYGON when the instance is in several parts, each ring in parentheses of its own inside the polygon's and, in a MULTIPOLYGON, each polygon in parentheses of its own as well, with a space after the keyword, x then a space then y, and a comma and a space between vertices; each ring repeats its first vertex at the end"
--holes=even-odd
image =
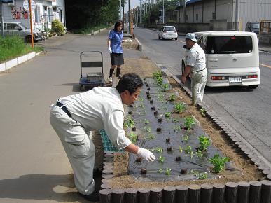
POLYGON ((203 101, 203 94, 205 85, 207 82, 207 69, 204 69, 203 71, 197 72, 196 74, 200 75, 201 79, 199 78, 191 78, 191 90, 193 92, 193 85, 195 83, 196 88, 196 98, 200 100, 200 102, 203 101))

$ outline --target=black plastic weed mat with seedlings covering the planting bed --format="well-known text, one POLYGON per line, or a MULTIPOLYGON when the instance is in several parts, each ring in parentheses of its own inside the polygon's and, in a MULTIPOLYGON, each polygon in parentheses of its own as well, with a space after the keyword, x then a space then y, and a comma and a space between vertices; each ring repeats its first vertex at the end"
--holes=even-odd
MULTIPOLYGON (((134 139, 134 144, 151 150, 155 155, 155 161, 141 160, 140 162, 137 160, 137 155, 130 153, 129 174, 140 181, 221 178, 210 171, 212 165, 209 163, 209 158, 214 157, 215 154, 224 157, 223 153, 212 143, 207 151, 202 151, 202 154, 197 153, 198 137, 209 136, 195 117, 193 117, 195 120, 193 129, 183 129, 184 118, 173 113, 174 105, 180 102, 168 100, 173 93, 167 92, 170 88, 167 79, 164 78, 164 83, 168 84, 168 87, 165 85, 165 91, 155 84, 153 78, 146 78, 144 81, 147 85, 142 87, 137 102, 128 108, 126 119, 132 118, 136 128, 129 127, 127 134, 130 135, 131 140, 134 139), (191 151, 186 150, 189 146, 191 151), (146 174, 141 174, 141 169, 146 169, 146 174)), ((177 92, 174 94, 178 97, 177 92)), ((186 106, 185 111, 188 111, 187 105, 184 103, 183 105, 186 106)), ((240 173, 233 162, 227 162, 225 169, 230 173, 240 173)))

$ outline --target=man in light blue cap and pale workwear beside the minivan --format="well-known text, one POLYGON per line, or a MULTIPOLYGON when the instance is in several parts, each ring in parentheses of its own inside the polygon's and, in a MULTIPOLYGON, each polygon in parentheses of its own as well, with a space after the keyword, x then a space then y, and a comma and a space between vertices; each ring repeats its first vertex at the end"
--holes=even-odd
POLYGON ((202 102, 204 89, 207 81, 207 69, 205 63, 204 50, 197 44, 195 34, 186 34, 186 48, 188 54, 186 55, 186 68, 181 76, 181 82, 186 83, 186 77, 191 73, 191 87, 194 86, 194 97, 202 102))

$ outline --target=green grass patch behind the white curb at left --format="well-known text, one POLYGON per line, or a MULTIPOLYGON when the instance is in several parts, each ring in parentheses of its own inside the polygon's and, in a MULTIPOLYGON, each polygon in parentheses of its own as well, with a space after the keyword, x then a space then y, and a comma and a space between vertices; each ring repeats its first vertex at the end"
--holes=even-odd
POLYGON ((0 37, 0 63, 15 57, 20 57, 29 52, 39 52, 43 50, 41 47, 34 47, 25 43, 20 36, 0 37))

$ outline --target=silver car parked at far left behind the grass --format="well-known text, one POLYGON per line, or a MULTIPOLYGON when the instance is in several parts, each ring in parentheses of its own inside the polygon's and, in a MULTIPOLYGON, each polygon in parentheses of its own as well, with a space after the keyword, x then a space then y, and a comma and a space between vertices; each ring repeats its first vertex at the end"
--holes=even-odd
MULTIPOLYGON (((1 26, 1 22, 0 22, 1 26)), ((25 27, 21 22, 4 22, 4 32, 6 36, 18 35, 24 38, 26 42, 31 42, 31 30, 25 27)), ((0 27, 0 34, 2 33, 0 27)), ((41 32, 33 30, 34 42, 41 41, 43 38, 41 32)))

